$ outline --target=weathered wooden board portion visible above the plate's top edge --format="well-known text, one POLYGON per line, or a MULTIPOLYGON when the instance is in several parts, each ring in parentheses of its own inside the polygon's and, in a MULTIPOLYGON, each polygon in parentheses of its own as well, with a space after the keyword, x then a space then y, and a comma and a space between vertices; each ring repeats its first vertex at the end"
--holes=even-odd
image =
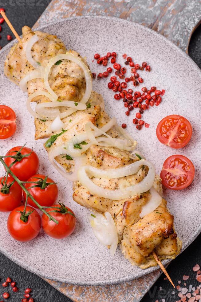
POLYGON ((102 15, 143 24, 188 50, 201 19, 200 0, 53 0, 36 26, 73 16, 102 15))

